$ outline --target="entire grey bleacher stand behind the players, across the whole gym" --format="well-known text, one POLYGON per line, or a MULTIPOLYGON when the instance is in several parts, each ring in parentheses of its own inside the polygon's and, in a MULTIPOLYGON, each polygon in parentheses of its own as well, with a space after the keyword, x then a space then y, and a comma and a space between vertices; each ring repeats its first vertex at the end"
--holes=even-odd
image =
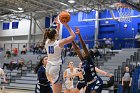
MULTIPOLYGON (((120 84, 121 79, 121 66, 125 65, 124 62, 129 62, 129 64, 135 64, 138 61, 138 52, 140 50, 138 49, 122 49, 121 51, 108 51, 105 53, 103 58, 98 58, 95 60, 95 63, 98 63, 98 67, 102 70, 105 70, 109 73, 112 73, 115 75, 115 84, 120 84), (137 56, 137 57, 136 57, 137 56), (133 61, 133 62, 132 62, 133 61), (115 73, 116 72, 116 73, 115 73)), ((9 60, 3 60, 2 54, 0 55, 1 60, 1 66, 3 63, 8 62, 9 60)), ((9 85, 6 85, 7 88, 15 88, 15 89, 26 89, 26 90, 34 90, 35 84, 37 81, 37 75, 34 74, 33 68, 39 61, 40 57, 44 55, 33 55, 31 53, 28 53, 26 55, 20 55, 18 57, 26 59, 26 62, 28 63, 27 66, 22 67, 22 69, 19 70, 5 70, 5 73, 7 75, 7 79, 10 81, 9 85), (32 66, 31 66, 32 65, 32 66)), ((140 58, 139 58, 140 59, 140 58)), ((75 57, 65 57, 65 63, 63 64, 63 71, 67 69, 68 62, 73 61, 75 67, 78 67, 78 64, 80 63, 80 59, 75 57)), ((99 76, 103 79, 104 82, 108 80, 107 77, 100 75, 99 76)), ((77 79, 75 79, 74 84, 77 83, 77 79)), ((64 87, 63 87, 64 88, 64 87)), ((104 89, 103 93, 113 93, 111 89, 104 89)), ((132 92, 133 93, 133 92, 132 92)))

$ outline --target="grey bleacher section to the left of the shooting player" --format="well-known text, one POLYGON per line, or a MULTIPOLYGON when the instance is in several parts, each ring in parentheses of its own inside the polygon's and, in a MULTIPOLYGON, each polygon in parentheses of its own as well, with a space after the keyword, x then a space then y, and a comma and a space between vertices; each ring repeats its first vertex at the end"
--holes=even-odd
POLYGON ((12 57, 9 59, 4 59, 4 53, 0 55, 1 67, 3 63, 10 63, 10 61, 18 58, 25 59, 25 65, 19 70, 7 70, 4 69, 9 85, 6 85, 6 88, 15 88, 15 89, 26 89, 26 90, 34 90, 35 84, 37 83, 37 75, 34 74, 33 69, 39 61, 40 57, 44 55, 33 55, 32 53, 28 53, 26 55, 19 55, 16 57, 12 57))

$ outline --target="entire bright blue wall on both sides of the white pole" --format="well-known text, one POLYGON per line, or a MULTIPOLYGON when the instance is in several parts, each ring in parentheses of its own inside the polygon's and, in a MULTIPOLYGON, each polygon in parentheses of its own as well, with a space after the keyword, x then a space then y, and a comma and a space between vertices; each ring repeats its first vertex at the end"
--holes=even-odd
MULTIPOLYGON (((116 10, 113 11, 115 16, 118 16, 116 10)), ((134 11, 134 15, 139 15, 140 12, 134 11)), ((88 14, 89 18, 95 18, 95 11, 88 14)), ((100 12, 100 19, 102 18, 112 18, 111 14, 108 10, 104 10, 100 12)), ((120 48, 130 48, 130 47, 137 47, 136 41, 133 40, 137 31, 140 29, 140 18, 133 18, 131 23, 122 23, 116 20, 108 20, 108 24, 105 23, 106 21, 99 22, 99 39, 103 38, 112 38, 115 44, 114 49, 120 48), (124 28, 124 24, 127 24, 128 27, 124 28), (139 26, 138 26, 139 25, 139 26), (134 31, 132 31, 134 28, 134 31)), ((71 20, 68 23, 73 30, 75 27, 80 27, 81 34, 84 40, 94 40, 94 31, 95 31, 95 21, 88 21, 88 22, 81 22, 78 21, 78 14, 71 14, 71 20)), ((63 34, 62 37, 66 38, 69 36, 69 33, 65 27, 63 27, 63 34)), ((78 40, 76 37, 75 40, 78 40)), ((93 48, 93 41, 89 43, 89 48, 93 48)))

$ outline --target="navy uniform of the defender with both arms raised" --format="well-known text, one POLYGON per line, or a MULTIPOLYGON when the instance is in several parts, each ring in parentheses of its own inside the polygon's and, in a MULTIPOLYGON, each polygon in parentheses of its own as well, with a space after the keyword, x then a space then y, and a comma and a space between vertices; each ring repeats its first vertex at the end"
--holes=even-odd
POLYGON ((96 91, 96 93, 101 93, 103 89, 103 81, 96 74, 92 57, 86 57, 86 59, 82 62, 82 68, 84 70, 84 81, 86 82, 87 86, 85 93, 92 93, 93 91, 96 91))

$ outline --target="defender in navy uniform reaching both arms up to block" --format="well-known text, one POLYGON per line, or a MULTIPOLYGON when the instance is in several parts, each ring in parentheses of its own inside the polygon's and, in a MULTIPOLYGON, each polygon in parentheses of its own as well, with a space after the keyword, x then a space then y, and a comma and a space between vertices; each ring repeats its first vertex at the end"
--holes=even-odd
POLYGON ((82 61, 82 69, 84 71, 82 73, 83 81, 85 81, 86 83, 85 93, 101 93, 103 89, 103 81, 97 75, 96 72, 101 73, 108 77, 112 77, 112 75, 95 67, 93 58, 91 57, 88 49, 86 48, 86 45, 81 37, 79 28, 76 28, 76 34, 78 35, 84 50, 84 55, 82 55, 80 49, 76 46, 75 42, 74 41, 72 42, 74 50, 76 51, 78 57, 82 61))

